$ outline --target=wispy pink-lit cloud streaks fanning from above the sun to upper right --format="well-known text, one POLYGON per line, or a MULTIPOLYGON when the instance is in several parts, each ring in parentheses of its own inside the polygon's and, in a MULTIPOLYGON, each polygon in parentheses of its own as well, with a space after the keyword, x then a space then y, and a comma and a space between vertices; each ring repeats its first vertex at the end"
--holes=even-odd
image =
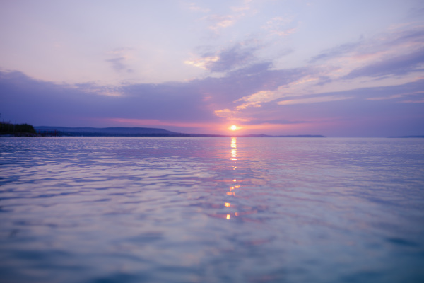
MULTIPOLYGON (((272 74, 278 74, 280 78, 277 81, 273 81, 272 84, 262 84, 257 91, 253 91, 252 88, 252 92, 248 95, 228 101, 230 104, 226 104, 224 108, 217 108, 214 113, 216 116, 227 120, 238 120, 247 123, 254 120, 247 113, 252 115, 264 105, 266 105, 267 109, 269 109, 270 105, 278 105, 278 107, 317 103, 324 105, 336 101, 360 98, 359 94, 362 99, 369 101, 397 98, 396 102, 401 102, 400 99, 406 97, 404 93, 407 85, 398 89, 396 88, 396 83, 391 83, 393 86, 385 88, 382 88, 380 84, 380 87, 367 89, 358 89, 357 86, 352 85, 351 91, 344 90, 338 91, 338 93, 319 93, 318 91, 326 83, 334 84, 337 81, 350 81, 357 78, 375 79, 382 76, 406 76, 411 74, 411 72, 424 71, 422 67, 424 52, 418 48, 419 45, 417 44, 417 42, 424 42, 421 33, 417 30, 401 30, 390 34, 391 36, 379 35, 377 38, 368 40, 361 38, 358 42, 350 42, 332 50, 327 50, 313 57, 310 60, 310 64, 304 68, 273 71, 265 69, 261 72, 266 74, 269 82, 273 81, 270 79, 272 74), (376 42, 379 45, 378 47, 375 47, 377 45, 376 42), (387 49, 382 47, 387 47, 387 49), (403 52, 408 53, 404 54, 403 52), (396 56, 396 54, 398 55, 396 56), (339 66, 336 66, 336 64, 339 64, 339 66), (384 93, 381 91, 383 89, 385 90, 384 93), (378 94, 378 96, 363 96, 364 93, 368 95, 374 93, 378 94), (228 105, 232 105, 232 107, 229 108, 228 105)), ((228 49, 225 52, 228 52, 231 55, 229 57, 233 60, 237 61, 239 59, 239 63, 232 64, 231 60, 225 62, 225 60, 218 59, 209 65, 209 69, 216 71, 230 69, 232 66, 242 65, 242 59, 248 58, 247 62, 252 60, 252 57, 235 56, 235 54, 243 55, 243 52, 240 52, 237 48, 228 49), (226 67, 220 67, 220 64, 226 67)), ((247 52, 247 54, 252 53, 247 52)), ((218 55, 221 55, 221 53, 218 55)), ((266 68, 270 66, 268 65, 266 68)), ((240 70, 244 71, 245 69, 240 70)), ((231 74, 234 73, 232 72, 231 74)), ((247 81, 247 74, 242 76, 245 76, 247 81)), ((254 77, 257 76, 259 75, 255 74, 254 77)), ((230 73, 228 73, 228 77, 230 77, 230 73)), ((413 84, 408 87, 416 89, 413 84)), ((240 92, 240 94, 242 93, 240 92)), ((420 98, 404 100, 404 102, 420 103, 420 98)))

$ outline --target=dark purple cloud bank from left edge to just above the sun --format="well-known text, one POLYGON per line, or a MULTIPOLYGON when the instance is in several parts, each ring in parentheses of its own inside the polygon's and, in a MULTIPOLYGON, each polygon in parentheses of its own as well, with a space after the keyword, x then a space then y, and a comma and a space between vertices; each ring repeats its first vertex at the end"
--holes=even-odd
MULTIPOLYGON (((231 117, 225 105, 231 105, 252 91, 273 90, 302 76, 297 71, 270 70, 269 67, 270 63, 253 64, 220 78, 184 83, 128 83, 121 86, 57 84, 37 81, 18 71, 0 71, 0 93, 4 93, 2 105, 7 108, 8 115, 19 113, 16 115, 23 122, 35 125, 86 125, 88 120, 156 120, 172 122, 172 125, 196 121, 207 124, 231 117)), ((233 118, 249 120, 246 117, 233 118)))

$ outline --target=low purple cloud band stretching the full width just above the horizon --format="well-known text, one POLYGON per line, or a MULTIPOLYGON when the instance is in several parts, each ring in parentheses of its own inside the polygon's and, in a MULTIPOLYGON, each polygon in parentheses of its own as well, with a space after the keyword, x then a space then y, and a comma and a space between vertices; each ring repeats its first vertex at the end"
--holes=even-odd
MULTIPOLYGON (((271 126, 266 125, 281 125, 278 129, 286 131, 276 134, 329 135, 331 132, 319 130, 324 129, 320 125, 346 121, 358 121, 355 127, 365 123, 361 126, 364 128, 373 122, 375 127, 378 125, 378 129, 387 134, 395 130, 384 126, 389 120, 397 121, 398 132, 405 129, 402 123, 406 121, 413 122, 414 128, 424 125, 424 79, 399 86, 356 88, 334 93, 291 93, 291 97, 290 93, 285 93, 286 100, 283 101, 281 97, 274 100, 271 97, 265 102, 261 100, 261 107, 235 109, 244 103, 240 99, 249 97, 249 93, 267 89, 279 91, 290 81, 307 81, 305 70, 270 70, 269 66, 252 65, 221 78, 184 83, 126 84, 110 88, 96 88, 91 83, 49 83, 31 79, 18 71, 0 71, 0 111, 5 119, 33 125, 160 126, 180 132, 215 132, 218 125, 225 125, 228 121, 247 125, 245 129, 252 131, 271 130, 271 126), (122 96, 99 95, 106 90, 117 91, 122 96), (240 100, 240 103, 234 103, 235 100, 240 100), (264 127, 252 128, 249 125, 264 127)), ((349 127, 339 130, 346 132, 349 127)), ((376 132, 370 133, 375 135, 376 132)))

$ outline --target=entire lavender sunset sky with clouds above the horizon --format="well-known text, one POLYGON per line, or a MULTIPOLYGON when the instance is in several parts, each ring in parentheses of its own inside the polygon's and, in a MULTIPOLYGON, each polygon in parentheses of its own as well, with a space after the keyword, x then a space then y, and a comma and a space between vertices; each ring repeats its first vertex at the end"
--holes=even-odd
POLYGON ((424 1, 0 2, 0 120, 424 135, 424 1))

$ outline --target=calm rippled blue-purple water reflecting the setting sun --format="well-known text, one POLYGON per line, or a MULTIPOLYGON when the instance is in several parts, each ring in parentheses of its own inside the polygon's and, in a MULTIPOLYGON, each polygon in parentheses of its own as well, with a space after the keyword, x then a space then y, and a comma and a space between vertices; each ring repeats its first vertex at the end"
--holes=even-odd
POLYGON ((423 282, 424 139, 1 138, 0 282, 423 282))

